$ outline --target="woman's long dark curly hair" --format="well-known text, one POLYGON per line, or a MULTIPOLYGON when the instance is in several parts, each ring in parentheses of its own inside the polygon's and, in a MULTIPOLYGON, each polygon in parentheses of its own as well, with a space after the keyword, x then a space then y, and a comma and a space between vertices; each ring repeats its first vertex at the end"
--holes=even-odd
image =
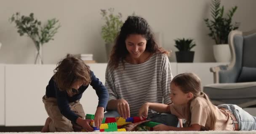
POLYGON ((109 64, 114 66, 114 68, 118 67, 120 61, 123 63, 123 67, 125 67, 125 57, 129 53, 125 46, 125 39, 131 34, 140 34, 147 40, 145 51, 153 54, 169 54, 169 52, 157 45, 155 36, 144 18, 128 16, 116 37, 115 45, 110 55, 109 64))

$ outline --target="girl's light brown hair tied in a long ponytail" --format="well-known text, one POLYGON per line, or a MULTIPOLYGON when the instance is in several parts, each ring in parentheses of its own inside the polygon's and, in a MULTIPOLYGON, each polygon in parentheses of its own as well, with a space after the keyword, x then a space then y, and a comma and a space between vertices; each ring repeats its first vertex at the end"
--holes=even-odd
MULTIPOLYGON (((192 93, 193 98, 189 101, 189 108, 190 108, 190 103, 193 99, 197 97, 203 97, 205 98, 206 102, 208 103, 211 113, 210 113, 210 118, 212 119, 210 128, 206 128, 209 130, 214 130, 215 129, 215 123, 216 123, 216 116, 213 110, 213 104, 211 103, 210 99, 208 98, 208 95, 202 92, 201 90, 201 82, 200 78, 197 77, 194 73, 182 73, 179 75, 176 75, 171 83, 175 84, 179 88, 181 88, 181 91, 183 93, 192 93)), ((190 126, 191 125, 191 111, 187 111, 189 118, 186 121, 186 125, 190 126)))

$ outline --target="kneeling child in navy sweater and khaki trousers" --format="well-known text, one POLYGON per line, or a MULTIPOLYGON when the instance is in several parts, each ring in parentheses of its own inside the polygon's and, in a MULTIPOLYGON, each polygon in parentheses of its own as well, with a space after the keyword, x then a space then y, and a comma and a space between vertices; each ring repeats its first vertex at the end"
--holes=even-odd
POLYGON ((43 103, 49 117, 45 121, 42 132, 74 131, 77 124, 80 130, 93 131, 89 125, 91 120, 83 119, 85 112, 79 103, 89 84, 96 90, 99 97, 94 119, 96 127, 99 128, 109 96, 104 85, 83 60, 69 54, 57 64, 54 72, 46 87, 46 94, 43 96, 43 103))

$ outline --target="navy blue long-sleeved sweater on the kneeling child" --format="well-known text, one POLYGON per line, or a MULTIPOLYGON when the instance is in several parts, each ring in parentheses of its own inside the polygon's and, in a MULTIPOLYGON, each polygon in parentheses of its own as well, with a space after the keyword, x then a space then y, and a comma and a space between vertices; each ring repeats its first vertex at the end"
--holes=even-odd
MULTIPOLYGON (((107 101, 109 98, 108 91, 104 87, 102 82, 100 82, 99 79, 95 77, 92 71, 91 71, 90 85, 93 87, 94 90, 96 90, 96 94, 99 97, 99 103, 97 107, 103 107, 104 109, 106 109, 107 101)), ((88 88, 88 85, 87 86, 82 85, 78 89, 79 93, 77 93, 72 97, 69 97, 66 91, 59 90, 59 88, 57 87, 52 77, 51 80, 49 81, 49 84, 46 87, 46 96, 56 98, 61 114, 65 116, 67 119, 69 119, 70 121, 76 122, 78 116, 73 111, 70 110, 69 103, 79 100, 82 97, 83 92, 86 90, 86 88, 88 88)))

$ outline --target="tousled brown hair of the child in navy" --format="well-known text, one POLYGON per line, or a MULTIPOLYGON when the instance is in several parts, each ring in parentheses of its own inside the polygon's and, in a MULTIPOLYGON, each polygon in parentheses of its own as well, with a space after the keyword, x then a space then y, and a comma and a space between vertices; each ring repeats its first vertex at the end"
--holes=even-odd
POLYGON ((74 82, 81 80, 83 85, 89 85, 91 82, 91 70, 83 60, 67 54, 67 57, 61 60, 53 71, 53 80, 56 82, 59 90, 66 91, 69 96, 76 93, 72 92, 71 86, 74 82))

